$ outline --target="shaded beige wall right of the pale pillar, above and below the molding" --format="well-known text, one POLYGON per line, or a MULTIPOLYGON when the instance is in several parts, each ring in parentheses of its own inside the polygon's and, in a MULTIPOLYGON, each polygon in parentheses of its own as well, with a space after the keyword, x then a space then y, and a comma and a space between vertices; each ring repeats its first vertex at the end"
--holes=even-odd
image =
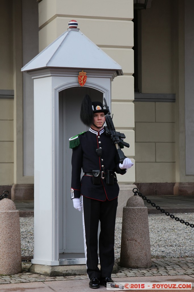
POLYGON ((135 102, 136 181, 194 182, 185 161, 184 0, 152 1, 141 14, 142 93, 176 101, 135 102))

